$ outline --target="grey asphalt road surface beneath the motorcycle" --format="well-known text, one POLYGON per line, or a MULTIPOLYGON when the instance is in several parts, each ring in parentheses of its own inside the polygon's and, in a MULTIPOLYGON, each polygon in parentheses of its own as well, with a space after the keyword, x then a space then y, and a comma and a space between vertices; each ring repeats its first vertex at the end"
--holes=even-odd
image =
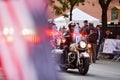
POLYGON ((61 72, 58 69, 61 80, 120 80, 120 62, 99 60, 91 64, 88 74, 82 76, 77 69, 69 69, 61 72))

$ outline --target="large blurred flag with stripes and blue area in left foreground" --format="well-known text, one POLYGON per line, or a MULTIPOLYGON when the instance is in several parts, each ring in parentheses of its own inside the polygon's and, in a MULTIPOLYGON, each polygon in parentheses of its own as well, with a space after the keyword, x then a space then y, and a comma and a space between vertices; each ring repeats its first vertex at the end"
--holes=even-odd
POLYGON ((0 30, 12 27, 14 42, 8 44, 0 33, 0 60, 5 80, 58 80, 50 57, 47 29, 47 1, 0 0, 0 30), (20 35, 23 28, 34 28, 44 40, 29 50, 20 35))

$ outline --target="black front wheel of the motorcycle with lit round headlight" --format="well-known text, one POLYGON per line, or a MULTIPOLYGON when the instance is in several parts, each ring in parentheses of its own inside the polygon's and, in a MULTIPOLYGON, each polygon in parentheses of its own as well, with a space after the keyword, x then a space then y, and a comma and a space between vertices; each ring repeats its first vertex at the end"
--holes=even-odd
POLYGON ((79 73, 81 75, 86 75, 89 70, 89 59, 88 58, 82 58, 80 59, 80 64, 78 66, 79 73))

